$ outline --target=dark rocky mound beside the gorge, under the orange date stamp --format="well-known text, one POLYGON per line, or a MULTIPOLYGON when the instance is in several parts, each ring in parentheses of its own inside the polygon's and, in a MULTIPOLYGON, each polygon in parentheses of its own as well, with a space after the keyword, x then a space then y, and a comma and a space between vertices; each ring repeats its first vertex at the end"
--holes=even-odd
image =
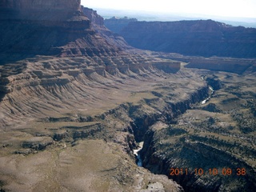
POLYGON ((140 153, 143 166, 154 174, 169 175, 169 178, 178 182, 187 192, 222 189, 254 191, 255 173, 251 166, 226 151, 203 143, 200 138, 186 138, 186 134, 185 130, 159 123, 151 126, 146 132, 140 153), (171 143, 168 142, 170 138, 177 139, 175 143, 171 143), (240 167, 247 171, 242 177, 236 172, 240 167), (172 174, 170 169, 176 170, 176 173, 172 174), (203 174, 198 174, 198 169, 202 169, 203 174), (213 169, 218 174, 213 174, 213 169), (226 169, 232 170, 233 174, 227 175, 226 169))

